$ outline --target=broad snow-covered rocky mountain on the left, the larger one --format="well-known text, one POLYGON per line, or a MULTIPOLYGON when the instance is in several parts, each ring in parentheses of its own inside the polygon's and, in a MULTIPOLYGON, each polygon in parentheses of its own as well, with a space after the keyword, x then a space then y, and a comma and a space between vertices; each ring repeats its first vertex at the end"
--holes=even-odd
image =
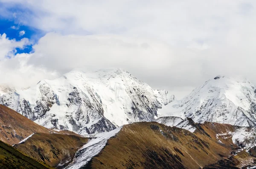
POLYGON ((55 80, 0 96, 8 106, 42 126, 79 134, 109 132, 118 126, 152 121, 174 96, 122 69, 73 70, 55 80))

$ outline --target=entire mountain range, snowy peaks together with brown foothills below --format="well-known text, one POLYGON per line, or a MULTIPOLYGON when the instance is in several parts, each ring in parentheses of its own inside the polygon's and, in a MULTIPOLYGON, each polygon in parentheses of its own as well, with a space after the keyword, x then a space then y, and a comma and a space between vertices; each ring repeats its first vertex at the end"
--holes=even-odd
POLYGON ((0 162, 10 166, 14 154, 15 166, 26 157, 57 169, 256 165, 256 86, 245 78, 214 77, 182 100, 123 69, 0 88, 0 162))

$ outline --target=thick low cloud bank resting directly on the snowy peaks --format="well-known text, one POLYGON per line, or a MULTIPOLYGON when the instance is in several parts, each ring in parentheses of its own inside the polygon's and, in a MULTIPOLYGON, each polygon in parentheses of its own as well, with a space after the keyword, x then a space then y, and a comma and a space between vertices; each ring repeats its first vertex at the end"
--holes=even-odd
MULTIPOLYGON (((224 43, 204 50, 177 48, 155 39, 120 35, 61 35, 49 33, 33 48, 29 64, 65 73, 84 66, 84 69, 121 67, 145 81, 154 89, 169 89, 184 95, 217 74, 242 75, 256 83, 256 49, 244 45, 252 37, 240 38, 236 44, 224 43), (234 46, 235 45, 235 46, 234 46), (239 46, 237 48, 236 46, 239 46), (186 92, 184 92, 186 91, 186 92)), ((231 34, 232 35, 232 34, 231 34)), ((232 36, 233 37, 233 36, 232 36)))

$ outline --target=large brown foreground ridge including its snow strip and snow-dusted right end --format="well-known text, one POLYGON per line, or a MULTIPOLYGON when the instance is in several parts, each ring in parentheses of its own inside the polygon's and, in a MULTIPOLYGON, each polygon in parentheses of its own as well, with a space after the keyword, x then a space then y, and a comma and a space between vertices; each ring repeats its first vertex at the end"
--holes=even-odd
MULTIPOLYGON (((131 123, 101 133, 81 147, 65 169, 239 169, 255 165, 256 158, 235 141, 246 127, 200 124, 191 119, 185 123, 196 127, 193 133, 157 122, 131 123)), ((243 143, 255 140, 251 136, 243 143)))

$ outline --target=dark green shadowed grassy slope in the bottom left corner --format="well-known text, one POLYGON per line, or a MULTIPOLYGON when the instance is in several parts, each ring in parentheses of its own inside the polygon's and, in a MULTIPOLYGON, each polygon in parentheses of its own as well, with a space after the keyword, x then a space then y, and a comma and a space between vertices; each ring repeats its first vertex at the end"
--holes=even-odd
POLYGON ((52 169, 0 141, 0 169, 52 169))

